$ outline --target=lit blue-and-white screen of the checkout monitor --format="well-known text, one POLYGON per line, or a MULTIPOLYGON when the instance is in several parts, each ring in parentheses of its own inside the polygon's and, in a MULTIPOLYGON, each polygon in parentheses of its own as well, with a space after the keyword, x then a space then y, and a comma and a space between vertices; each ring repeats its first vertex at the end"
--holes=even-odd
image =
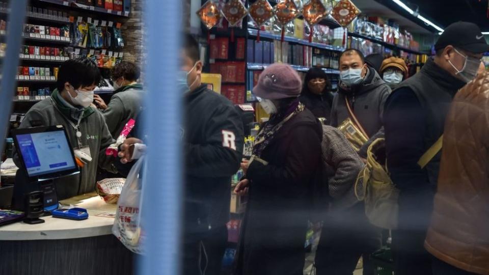
POLYGON ((17 133, 15 139, 29 177, 77 170, 73 151, 63 128, 17 133))

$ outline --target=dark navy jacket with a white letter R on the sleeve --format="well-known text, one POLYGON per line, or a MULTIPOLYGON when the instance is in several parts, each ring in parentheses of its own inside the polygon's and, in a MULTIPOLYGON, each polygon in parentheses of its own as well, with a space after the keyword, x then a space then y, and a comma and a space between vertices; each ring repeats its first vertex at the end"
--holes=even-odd
POLYGON ((234 105, 206 85, 184 100, 185 228, 205 233, 229 221, 231 177, 241 163, 243 125, 234 105))

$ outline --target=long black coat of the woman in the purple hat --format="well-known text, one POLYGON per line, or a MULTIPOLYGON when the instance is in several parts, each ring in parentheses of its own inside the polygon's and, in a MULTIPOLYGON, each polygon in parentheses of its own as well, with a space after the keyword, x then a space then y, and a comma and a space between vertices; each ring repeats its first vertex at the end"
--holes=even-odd
POLYGON ((321 123, 305 109, 286 122, 250 163, 247 213, 236 274, 303 274, 312 181, 320 169, 321 123))

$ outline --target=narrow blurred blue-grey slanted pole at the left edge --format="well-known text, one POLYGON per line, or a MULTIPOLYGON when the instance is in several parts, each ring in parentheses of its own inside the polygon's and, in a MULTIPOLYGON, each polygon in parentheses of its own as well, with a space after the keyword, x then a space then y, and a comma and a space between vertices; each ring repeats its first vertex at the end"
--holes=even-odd
POLYGON ((7 51, 3 61, 2 80, 0 80, 0 152, 4 150, 4 139, 17 85, 15 75, 17 75, 17 66, 19 65, 19 49, 22 41, 20 34, 24 23, 26 5, 27 0, 10 1, 10 13, 7 18, 7 51))

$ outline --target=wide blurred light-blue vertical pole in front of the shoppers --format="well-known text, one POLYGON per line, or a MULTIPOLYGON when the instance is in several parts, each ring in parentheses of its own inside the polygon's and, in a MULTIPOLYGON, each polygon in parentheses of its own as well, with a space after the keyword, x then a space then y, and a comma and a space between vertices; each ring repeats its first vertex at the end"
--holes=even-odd
POLYGON ((176 89, 180 56, 181 0, 146 0, 145 124, 147 169, 142 213, 147 233, 142 274, 179 274, 182 205, 181 102, 176 89))

